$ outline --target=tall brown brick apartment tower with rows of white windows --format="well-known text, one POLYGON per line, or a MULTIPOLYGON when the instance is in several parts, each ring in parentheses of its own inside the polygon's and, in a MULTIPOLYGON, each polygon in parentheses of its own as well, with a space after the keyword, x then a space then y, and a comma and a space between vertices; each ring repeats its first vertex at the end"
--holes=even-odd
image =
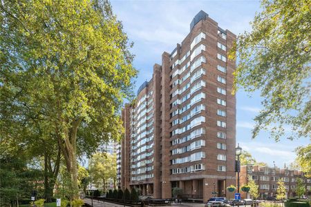
POLYGON ((163 52, 122 110, 122 188, 159 199, 171 198, 174 187, 185 199, 228 196, 236 179, 236 62, 227 54, 235 40, 200 11, 182 43, 163 52))

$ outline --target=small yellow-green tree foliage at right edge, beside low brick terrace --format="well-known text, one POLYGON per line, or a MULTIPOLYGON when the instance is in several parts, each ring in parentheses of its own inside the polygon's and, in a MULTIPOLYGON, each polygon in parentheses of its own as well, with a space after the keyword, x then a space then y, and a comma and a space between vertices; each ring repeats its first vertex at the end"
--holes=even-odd
POLYGON ((306 177, 311 177, 311 144, 296 148, 296 161, 306 177))

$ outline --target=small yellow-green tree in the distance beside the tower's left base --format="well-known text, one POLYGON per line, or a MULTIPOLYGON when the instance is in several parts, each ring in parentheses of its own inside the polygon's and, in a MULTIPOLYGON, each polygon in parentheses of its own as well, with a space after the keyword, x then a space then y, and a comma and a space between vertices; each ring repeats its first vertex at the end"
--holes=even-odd
POLYGON ((93 182, 97 186, 102 182, 104 192, 106 192, 106 181, 113 179, 114 185, 117 179, 117 159, 116 155, 109 155, 102 152, 97 152, 88 162, 93 182))

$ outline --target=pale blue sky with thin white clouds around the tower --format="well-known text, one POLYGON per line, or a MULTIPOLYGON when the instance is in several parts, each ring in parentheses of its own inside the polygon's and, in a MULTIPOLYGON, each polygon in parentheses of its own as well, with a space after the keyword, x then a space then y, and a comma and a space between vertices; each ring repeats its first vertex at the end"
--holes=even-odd
MULTIPOLYGON (((250 30, 259 1, 113 1, 113 12, 122 21, 129 39, 134 42, 131 50, 135 54, 133 62, 139 70, 136 89, 151 79, 154 63, 161 63, 162 52, 171 52, 176 43, 180 43, 189 33, 192 18, 204 10, 218 26, 235 34, 250 30)), ((240 146, 252 153, 257 161, 265 161, 273 166, 283 167, 284 163, 294 161, 294 149, 309 144, 306 138, 290 141, 282 139, 278 143, 268 138, 267 132, 261 132, 251 139, 254 125, 252 119, 261 109, 261 97, 257 94, 249 97, 239 90, 237 93, 236 139, 240 146)))

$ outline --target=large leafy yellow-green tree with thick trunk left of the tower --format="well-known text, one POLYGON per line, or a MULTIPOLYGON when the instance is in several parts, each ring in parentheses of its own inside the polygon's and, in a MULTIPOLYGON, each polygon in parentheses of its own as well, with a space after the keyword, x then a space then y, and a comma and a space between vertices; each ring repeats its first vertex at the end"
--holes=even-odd
POLYGON ((28 114, 43 121, 77 189, 77 155, 122 132, 137 73, 122 23, 108 1, 1 1, 0 10, 0 117, 11 128, 31 124, 28 114))

